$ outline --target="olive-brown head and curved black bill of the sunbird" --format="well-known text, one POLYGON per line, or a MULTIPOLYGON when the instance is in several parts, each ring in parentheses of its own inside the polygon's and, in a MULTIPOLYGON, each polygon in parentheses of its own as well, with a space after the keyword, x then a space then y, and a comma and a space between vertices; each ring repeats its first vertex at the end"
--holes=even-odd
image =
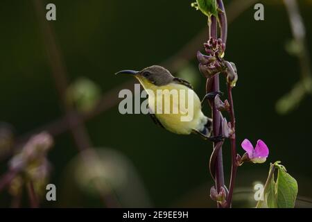
POLYGON ((141 71, 133 70, 123 70, 116 73, 117 74, 128 74, 130 76, 135 76, 144 87, 149 88, 149 85, 162 86, 168 85, 173 81, 173 76, 170 71, 161 67, 159 65, 153 65, 147 67, 141 71))

